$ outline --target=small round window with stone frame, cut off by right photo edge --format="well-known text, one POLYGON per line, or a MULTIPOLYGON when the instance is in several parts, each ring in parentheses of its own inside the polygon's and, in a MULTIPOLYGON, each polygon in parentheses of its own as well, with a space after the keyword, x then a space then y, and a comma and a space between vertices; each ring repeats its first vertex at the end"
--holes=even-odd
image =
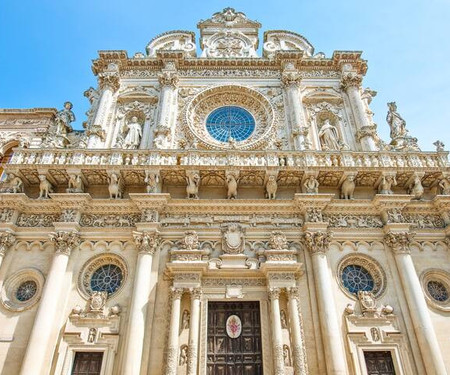
POLYGON ((427 302, 436 309, 450 311, 450 274, 431 269, 420 278, 427 302))

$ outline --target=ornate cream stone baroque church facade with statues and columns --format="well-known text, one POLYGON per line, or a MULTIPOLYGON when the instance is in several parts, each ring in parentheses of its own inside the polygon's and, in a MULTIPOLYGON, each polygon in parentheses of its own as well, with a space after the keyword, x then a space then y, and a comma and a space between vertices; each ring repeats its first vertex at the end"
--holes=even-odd
POLYGON ((450 175, 361 52, 227 8, 0 110, 0 373, 444 375, 450 175), (201 51, 201 52, 198 52, 201 51))

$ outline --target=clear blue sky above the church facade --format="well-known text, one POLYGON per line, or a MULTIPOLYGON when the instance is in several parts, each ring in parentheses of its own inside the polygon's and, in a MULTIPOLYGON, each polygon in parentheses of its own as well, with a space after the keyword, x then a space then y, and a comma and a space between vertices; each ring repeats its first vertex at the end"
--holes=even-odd
POLYGON ((386 103, 396 101, 423 150, 434 150, 436 139, 450 149, 448 0, 3 0, 0 108, 60 109, 70 100, 81 128, 98 50, 144 52, 154 36, 197 31, 200 19, 227 6, 262 23, 260 38, 265 30, 285 29, 327 57, 362 50, 369 63, 364 86, 378 91, 372 110, 380 136, 389 140, 386 103))

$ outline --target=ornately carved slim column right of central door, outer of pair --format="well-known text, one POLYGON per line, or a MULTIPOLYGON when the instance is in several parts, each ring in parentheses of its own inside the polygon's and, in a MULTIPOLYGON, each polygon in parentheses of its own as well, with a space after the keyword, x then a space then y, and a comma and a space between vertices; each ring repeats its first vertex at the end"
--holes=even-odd
POLYGON ((294 346, 292 354, 294 357, 295 375, 305 375, 308 373, 305 355, 305 343, 303 341, 302 322, 300 321, 300 310, 298 306, 298 288, 287 288, 289 322, 294 346))

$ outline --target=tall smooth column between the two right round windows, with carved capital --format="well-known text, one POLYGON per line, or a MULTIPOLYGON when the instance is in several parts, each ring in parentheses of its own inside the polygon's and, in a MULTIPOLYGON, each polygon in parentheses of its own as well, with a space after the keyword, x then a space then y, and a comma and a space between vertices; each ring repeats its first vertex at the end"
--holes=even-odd
POLYGON ((395 263, 402 281, 409 313, 414 325, 414 332, 422 352, 422 359, 425 363, 427 374, 444 375, 447 374, 447 370, 442 359, 441 348, 439 347, 422 292, 422 286, 411 258, 409 244, 413 237, 414 233, 389 231, 384 240, 394 253, 395 263))

